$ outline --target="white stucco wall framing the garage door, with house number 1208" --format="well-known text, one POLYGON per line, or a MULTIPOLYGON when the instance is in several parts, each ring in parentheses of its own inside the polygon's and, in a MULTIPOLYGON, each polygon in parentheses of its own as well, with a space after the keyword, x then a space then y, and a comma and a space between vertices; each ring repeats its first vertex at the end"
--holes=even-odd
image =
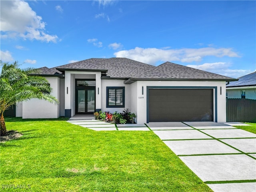
MULTIPOLYGON (((226 122, 226 82, 212 81, 138 81, 137 82, 137 123, 143 124, 147 121, 147 86, 205 86, 217 87, 217 98, 214 92, 214 121, 226 122), (142 86, 144 94, 142 95, 142 86), (222 94, 220 94, 220 87, 222 94), (217 101, 217 118, 215 117, 215 101, 217 101)), ((134 101, 133 101, 134 102, 134 101)))

